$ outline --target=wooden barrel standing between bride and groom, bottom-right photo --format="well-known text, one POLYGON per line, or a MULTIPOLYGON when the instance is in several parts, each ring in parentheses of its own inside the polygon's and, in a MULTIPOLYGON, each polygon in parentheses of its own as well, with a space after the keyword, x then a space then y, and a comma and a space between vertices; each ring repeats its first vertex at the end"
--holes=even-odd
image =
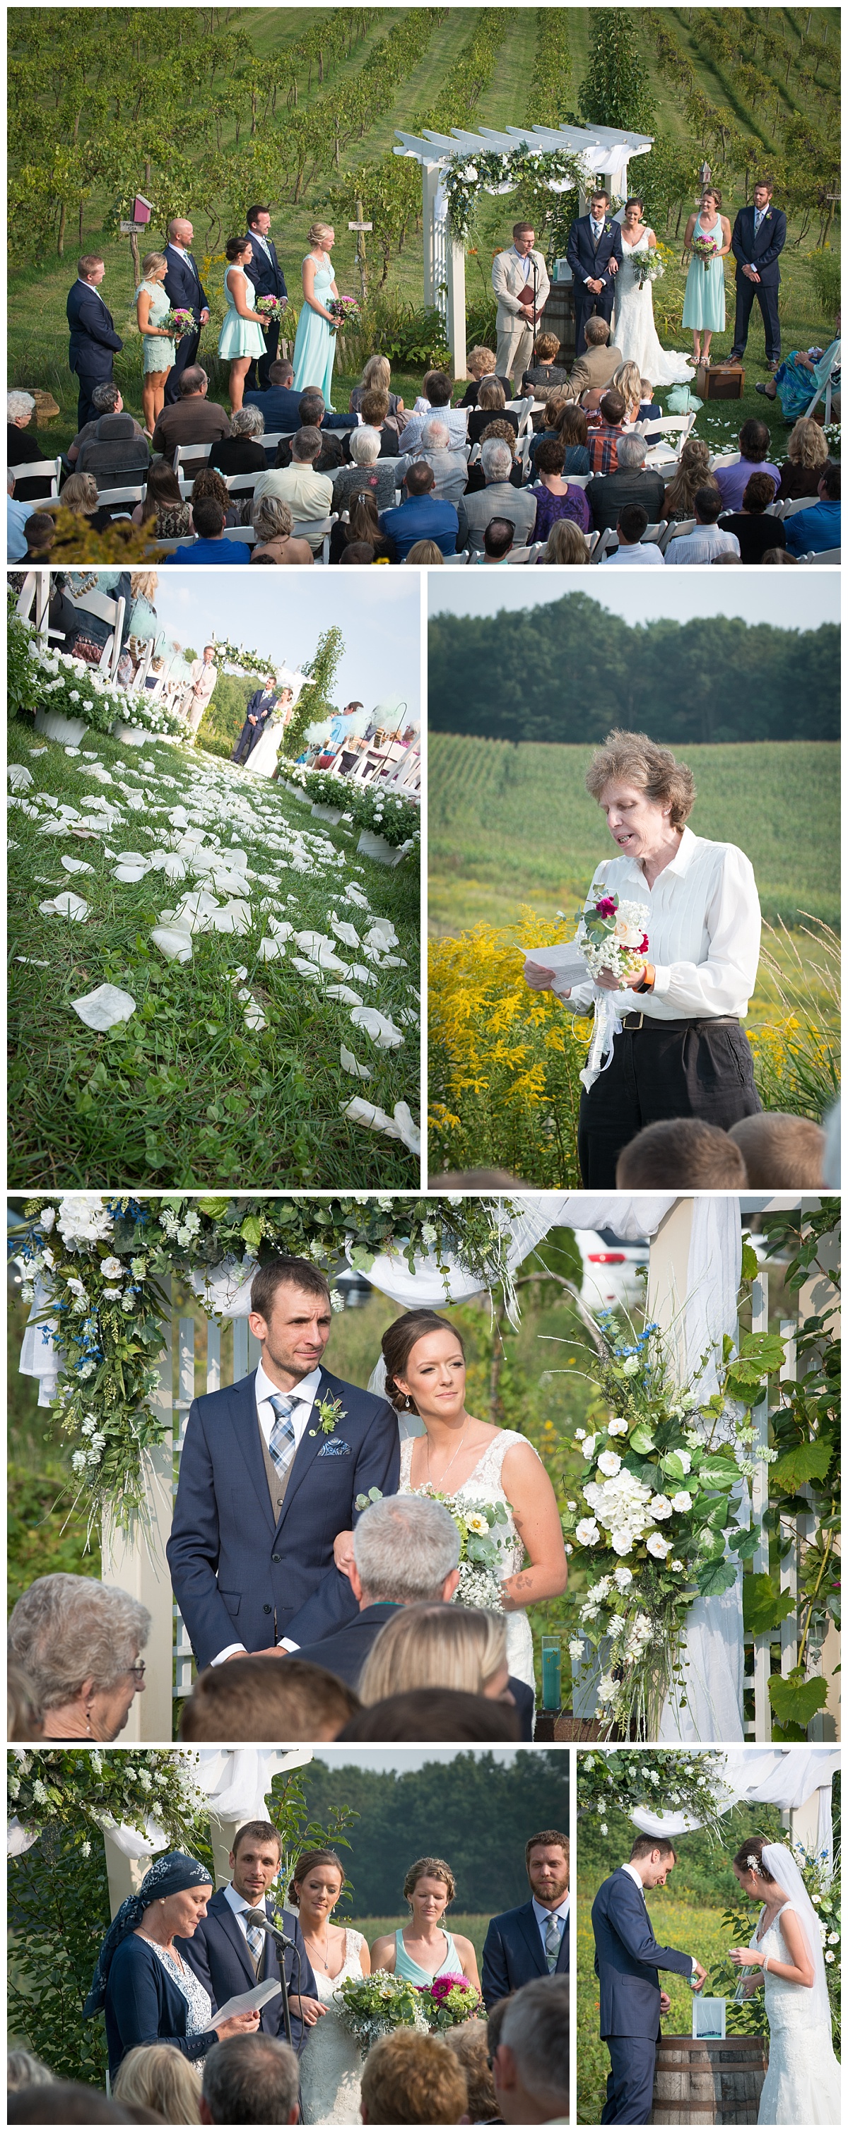
POLYGON ((754 2126, 765 2081, 763 2036, 661 2036, 654 2126, 754 2126))

